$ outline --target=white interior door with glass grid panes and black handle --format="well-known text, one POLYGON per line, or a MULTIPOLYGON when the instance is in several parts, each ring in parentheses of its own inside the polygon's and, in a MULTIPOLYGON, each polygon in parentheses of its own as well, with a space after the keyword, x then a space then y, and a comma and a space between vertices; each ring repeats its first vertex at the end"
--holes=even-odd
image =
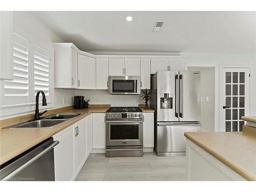
POLYGON ((249 115, 249 69, 223 68, 220 72, 220 131, 242 131, 241 116, 249 115))

